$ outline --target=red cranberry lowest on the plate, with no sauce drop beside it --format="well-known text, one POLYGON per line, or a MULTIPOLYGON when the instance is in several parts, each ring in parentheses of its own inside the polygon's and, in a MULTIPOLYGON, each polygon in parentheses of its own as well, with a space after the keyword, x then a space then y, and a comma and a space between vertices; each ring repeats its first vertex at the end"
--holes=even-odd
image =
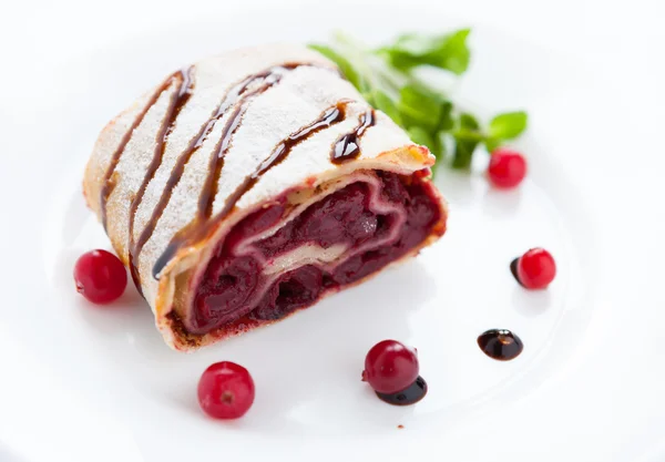
POLYGON ((198 404, 215 419, 237 419, 254 402, 254 380, 242 366, 222 361, 208 367, 198 381, 198 404))

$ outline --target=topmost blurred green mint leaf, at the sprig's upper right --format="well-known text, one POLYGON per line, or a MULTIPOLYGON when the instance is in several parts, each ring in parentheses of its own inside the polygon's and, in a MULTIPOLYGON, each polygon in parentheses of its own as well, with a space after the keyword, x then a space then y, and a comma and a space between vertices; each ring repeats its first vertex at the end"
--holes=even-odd
POLYGON ((443 35, 406 34, 391 47, 378 50, 397 69, 408 71, 418 65, 432 65, 461 75, 469 66, 471 52, 467 45, 470 29, 443 35))

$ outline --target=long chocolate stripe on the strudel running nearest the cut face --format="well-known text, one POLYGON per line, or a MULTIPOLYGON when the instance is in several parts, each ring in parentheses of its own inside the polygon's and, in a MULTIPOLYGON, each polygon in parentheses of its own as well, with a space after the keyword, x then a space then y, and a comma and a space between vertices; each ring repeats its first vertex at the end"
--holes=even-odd
POLYGON ((213 218, 207 218, 205 223, 190 223, 174 237, 174 239, 172 239, 164 253, 155 263, 153 268, 153 277, 157 278, 157 275, 164 269, 166 264, 168 264, 168 261, 183 246, 207 238, 208 233, 214 229, 214 225, 224 220, 235 208, 238 201, 254 187, 258 179, 273 167, 284 162, 284 160, 288 157, 288 154, 297 144, 307 140, 315 133, 344 121, 346 119, 346 105, 348 103, 349 101, 342 101, 337 103, 335 106, 328 107, 319 115, 317 120, 291 133, 284 141, 279 142, 273 148, 270 155, 263 161, 252 174, 247 175, 238 185, 238 187, 236 187, 236 189, 228 196, 224 207, 218 214, 216 214, 213 218))

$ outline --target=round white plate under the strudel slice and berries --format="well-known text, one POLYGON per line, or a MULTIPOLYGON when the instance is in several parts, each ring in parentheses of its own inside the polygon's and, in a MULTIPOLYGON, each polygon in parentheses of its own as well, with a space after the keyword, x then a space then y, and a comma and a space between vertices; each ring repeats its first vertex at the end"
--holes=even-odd
MULTIPOLYGON (((647 348, 658 345, 654 325, 664 317, 643 311, 649 317, 641 330, 626 330, 623 309, 635 308, 621 306, 627 291, 606 266, 633 263, 627 247, 610 237, 610 226, 614 235, 626 228, 611 214, 613 193, 591 157, 597 155, 591 148, 605 146, 583 125, 606 117, 602 102, 615 89, 574 59, 492 29, 474 30, 474 61, 459 99, 485 115, 529 110, 531 129, 519 147, 529 155, 530 176, 519 191, 500 193, 479 173, 481 155, 471 176, 440 170, 449 232, 418 258, 194 355, 163 343, 133 288, 110 308, 75 294, 78 256, 109 248, 80 187, 106 120, 172 69, 226 48, 321 40, 339 24, 374 41, 397 33, 400 22, 387 16, 385 28, 368 31, 360 24, 377 12, 360 7, 352 21, 332 9, 316 17, 303 9, 297 18, 278 8, 260 11, 283 19, 260 20, 250 33, 233 18, 149 28, 63 63, 44 79, 48 91, 10 100, 6 114, 20 123, 7 133, 17 151, 0 184, 13 217, 2 251, 12 264, 2 266, 9 295, 0 325, 0 448, 7 451, 0 459, 663 460, 663 379, 647 367, 659 361, 662 370, 662 359, 647 348), (549 248, 559 265, 546 291, 523 290, 509 271, 512 258, 533 246, 549 248), (524 352, 510 362, 485 357, 475 341, 489 328, 515 331, 524 352), (419 350, 430 391, 417 405, 389 407, 359 380, 365 353, 385 338, 419 350), (241 421, 212 421, 197 407, 198 377, 219 360, 254 376, 257 398, 241 421), (635 430, 626 431, 622 419, 635 430), (618 444, 593 451, 604 435, 618 444)), ((623 181, 640 188, 645 178, 636 172, 623 181)), ((643 236, 635 250, 652 235, 643 236)))

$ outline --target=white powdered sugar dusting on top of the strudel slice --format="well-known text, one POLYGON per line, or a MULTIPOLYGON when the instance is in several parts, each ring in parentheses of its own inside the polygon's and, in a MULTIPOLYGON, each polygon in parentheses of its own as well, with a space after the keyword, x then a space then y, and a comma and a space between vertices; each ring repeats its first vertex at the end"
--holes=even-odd
MULTIPOLYGON (((361 168, 385 167, 408 173, 424 166, 420 161, 420 163, 405 164, 397 158, 383 157, 388 152, 411 145, 411 142, 401 129, 378 111, 376 125, 369 127, 360 140, 360 157, 340 167, 331 164, 330 148, 335 141, 354 130, 358 116, 370 109, 355 88, 335 72, 335 66, 327 59, 300 45, 275 44, 236 50, 203 60, 194 65, 193 94, 175 121, 174 130, 166 141, 162 164, 149 183, 136 209, 134 238, 139 237, 151 219, 178 158, 201 127, 209 121, 229 89, 247 76, 265 72, 273 66, 294 64, 305 65, 284 72, 278 83, 245 102, 246 112, 231 140, 224 160, 217 195, 213 202, 213 215, 224 207, 228 196, 245 177, 254 172, 270 155, 275 146, 289 134, 307 126, 323 111, 340 101, 349 101, 346 106, 346 119, 297 144, 284 162, 262 176, 237 202, 237 211, 229 216, 228 223, 222 224, 215 239, 222 237, 224 229, 231 227, 243 215, 286 191, 297 189, 304 185, 316 186, 361 168)), ((109 197, 106 207, 108 234, 125 261, 130 240, 130 206, 145 177, 154 153, 156 134, 176 89, 177 84, 174 82, 150 107, 144 120, 132 134, 113 174, 115 188, 109 197)), ((136 115, 145 107, 152 93, 142 96, 130 110, 121 114, 102 132, 95 144, 86 171, 85 192, 98 215, 100 214, 99 193, 103 186, 102 182, 111 155, 136 115)), ((214 124, 203 145, 192 153, 151 238, 145 243, 136 261, 144 296, 156 312, 157 324, 162 329, 165 322, 162 317, 171 309, 187 310, 186 306, 177 306, 186 297, 176 294, 173 301, 171 296, 160 292, 163 288, 160 289, 160 281, 152 277, 152 269, 174 235, 195 217, 198 197, 208 174, 211 155, 222 136, 232 110, 233 106, 214 124)), ((162 284, 170 285, 172 287, 170 290, 173 290, 175 275, 205 263, 211 251, 208 247, 214 245, 215 243, 209 243, 208 246, 193 249, 201 255, 186 261, 176 257, 176 261, 166 268, 162 284)), ((173 336, 165 337, 173 339, 173 336)))

